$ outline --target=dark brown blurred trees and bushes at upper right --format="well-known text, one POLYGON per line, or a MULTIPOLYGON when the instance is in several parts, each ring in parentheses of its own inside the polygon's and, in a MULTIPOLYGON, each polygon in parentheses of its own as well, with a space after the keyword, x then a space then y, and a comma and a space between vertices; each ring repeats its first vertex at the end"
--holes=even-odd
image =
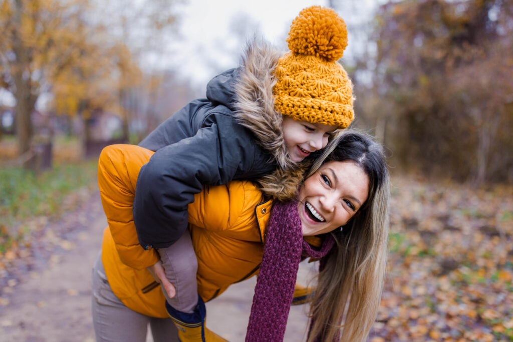
POLYGON ((512 14, 511 0, 380 8, 375 58, 358 65, 372 75, 360 82, 358 106, 405 165, 477 183, 513 180, 512 14))

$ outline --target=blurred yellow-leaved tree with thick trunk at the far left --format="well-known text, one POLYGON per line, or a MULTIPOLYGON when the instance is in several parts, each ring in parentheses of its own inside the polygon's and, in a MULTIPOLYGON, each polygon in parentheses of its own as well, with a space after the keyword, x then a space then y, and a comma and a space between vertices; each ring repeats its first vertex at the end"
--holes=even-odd
POLYGON ((84 0, 3 0, 1 4, 0 86, 16 99, 19 155, 30 149, 31 113, 38 96, 83 56, 85 7, 84 0))

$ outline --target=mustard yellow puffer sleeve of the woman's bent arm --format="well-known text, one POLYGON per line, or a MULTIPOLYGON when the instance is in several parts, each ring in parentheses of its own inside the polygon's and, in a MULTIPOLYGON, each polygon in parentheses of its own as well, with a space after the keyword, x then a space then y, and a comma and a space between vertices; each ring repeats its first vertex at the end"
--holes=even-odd
POLYGON ((134 145, 110 145, 98 159, 98 187, 117 253, 125 265, 143 269, 159 260, 155 250, 139 245, 133 223, 135 183, 152 151, 134 145))

